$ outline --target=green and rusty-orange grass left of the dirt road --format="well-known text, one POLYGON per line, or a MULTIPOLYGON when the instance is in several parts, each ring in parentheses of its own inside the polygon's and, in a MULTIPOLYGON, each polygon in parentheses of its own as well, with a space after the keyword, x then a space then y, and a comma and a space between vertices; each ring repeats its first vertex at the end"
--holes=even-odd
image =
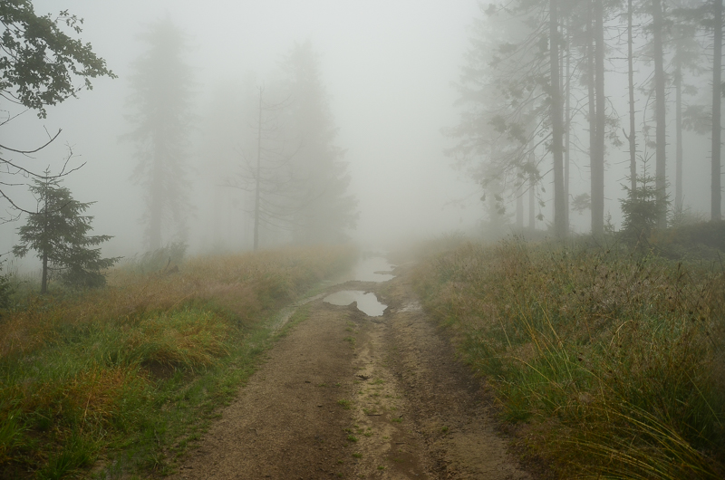
POLYGON ((275 313, 353 257, 198 257, 173 275, 131 265, 102 290, 16 299, 0 318, 0 477, 172 472, 307 309, 276 333, 275 313))

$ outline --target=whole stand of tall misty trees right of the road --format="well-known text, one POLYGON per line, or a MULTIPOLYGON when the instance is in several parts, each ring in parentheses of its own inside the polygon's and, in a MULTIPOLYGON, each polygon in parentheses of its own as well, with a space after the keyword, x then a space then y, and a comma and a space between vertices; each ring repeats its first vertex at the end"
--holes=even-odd
MULTIPOLYGON (((461 114, 447 130, 455 140, 448 154, 493 194, 495 213, 516 197, 523 226, 527 194, 533 226, 550 174, 556 235, 568 233, 573 209, 591 210, 591 232, 602 235, 605 165, 627 149, 623 201, 651 200, 656 226, 664 228, 683 208, 688 129, 710 136, 710 219, 720 220, 721 0, 514 0, 479 9, 456 83, 461 114), (626 79, 628 115, 616 111, 608 90, 619 78, 626 79), (711 101, 697 103, 697 85, 708 80, 711 101), (666 171, 672 103, 674 182, 666 171), (575 156, 585 159, 591 179, 578 196, 569 190, 575 156)), ((623 205, 625 215, 630 207, 623 205)))

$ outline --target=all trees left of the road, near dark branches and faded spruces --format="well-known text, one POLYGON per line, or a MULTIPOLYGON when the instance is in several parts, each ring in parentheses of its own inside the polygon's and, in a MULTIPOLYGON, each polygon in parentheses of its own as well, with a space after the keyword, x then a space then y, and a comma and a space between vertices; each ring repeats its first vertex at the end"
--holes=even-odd
MULTIPOLYGON (((63 27, 82 33, 82 19, 67 11, 39 15, 30 0, 18 0, 0 4, 0 21, 5 27, 0 38, 4 52, 0 54, 0 91, 4 101, 21 112, 34 110, 44 118, 47 107, 91 89, 92 79, 116 78, 90 43, 64 33, 63 27), (82 83, 77 85, 79 80, 82 83)), ((220 142, 233 148, 210 149, 199 156, 192 141, 198 127, 198 92, 187 62, 187 34, 166 18, 148 25, 140 40, 146 51, 131 67, 129 130, 121 139, 133 146, 136 168, 131 179, 143 192, 146 207, 141 221, 149 251, 187 241, 187 220, 193 215, 189 191, 196 183, 191 176, 199 169, 213 171, 213 187, 248 189, 256 198, 251 204, 249 197, 242 198, 233 220, 241 222, 244 210, 255 218, 254 245, 239 241, 233 245, 236 250, 265 246, 259 241, 263 228, 266 239, 275 238, 276 243, 337 243, 346 238, 357 219, 357 202, 347 193, 350 176, 344 151, 334 144, 336 128, 310 43, 295 44, 286 55, 279 78, 266 92, 271 103, 263 101, 261 87, 256 89, 258 105, 248 101, 249 82, 233 89, 223 103, 243 107, 234 112, 232 123, 244 127, 220 142), (250 116, 258 121, 247 122, 250 116), (256 142, 247 141, 250 135, 256 142), (215 169, 213 156, 218 154, 227 157, 222 165, 237 168, 215 169), (248 156, 255 157, 256 164, 246 163, 248 156)), ((15 116, 8 113, 0 126, 15 116)), ((35 149, 0 145, 0 197, 9 214, 0 220, 26 217, 13 252, 22 257, 34 251, 41 259, 42 293, 53 275, 76 287, 101 286, 103 271, 119 260, 101 256, 100 245, 111 236, 89 235, 93 217, 84 213, 93 202, 75 200, 70 189, 61 185, 64 177, 82 167, 68 167, 73 152, 58 172, 26 166, 24 156, 41 152, 59 134, 35 149), (29 184, 25 178, 30 178, 29 184), (11 188, 22 186, 29 187, 35 206, 16 201, 11 188)), ((5 282, 5 277, 0 278, 5 282)), ((0 284, 3 292, 5 283, 0 284)))

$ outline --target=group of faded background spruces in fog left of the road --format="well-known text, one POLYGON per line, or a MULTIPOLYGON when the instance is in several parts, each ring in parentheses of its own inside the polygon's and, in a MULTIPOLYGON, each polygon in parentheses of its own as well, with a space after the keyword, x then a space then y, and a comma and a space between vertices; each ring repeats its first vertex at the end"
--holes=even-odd
MULTIPOLYGON (((131 77, 133 130, 125 136, 136 147, 134 179, 145 192, 143 221, 150 250, 163 238, 186 238, 190 207, 186 169, 195 126, 193 78, 186 63, 183 32, 168 19, 142 36, 148 46, 131 77)), ((296 43, 281 62, 277 77, 264 84, 238 82, 208 107, 203 123, 227 133, 208 133, 208 150, 198 154, 198 169, 211 179, 210 190, 230 188, 242 216, 252 219, 252 245, 297 245, 344 241, 354 227, 357 201, 347 193, 350 176, 344 151, 334 144, 336 127, 311 43, 296 43), (232 111, 229 111, 233 109, 232 111), (221 156, 222 158, 215 158, 221 156)), ((218 216, 217 205, 211 216, 218 216)))

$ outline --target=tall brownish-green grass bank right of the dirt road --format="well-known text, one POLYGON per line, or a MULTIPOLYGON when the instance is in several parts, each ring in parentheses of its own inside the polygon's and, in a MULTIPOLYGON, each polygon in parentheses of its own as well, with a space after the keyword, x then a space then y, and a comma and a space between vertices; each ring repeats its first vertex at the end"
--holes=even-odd
POLYGON ((561 477, 725 477, 725 273, 586 245, 464 244, 415 287, 561 477))

